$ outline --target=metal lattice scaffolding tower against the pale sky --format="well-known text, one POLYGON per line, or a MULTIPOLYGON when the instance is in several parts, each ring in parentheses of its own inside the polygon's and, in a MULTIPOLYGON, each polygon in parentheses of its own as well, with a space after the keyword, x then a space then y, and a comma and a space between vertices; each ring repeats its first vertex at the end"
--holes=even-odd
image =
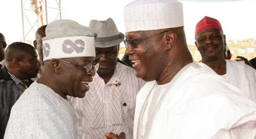
POLYGON ((21 0, 22 41, 33 41, 36 30, 61 19, 61 0, 21 0))

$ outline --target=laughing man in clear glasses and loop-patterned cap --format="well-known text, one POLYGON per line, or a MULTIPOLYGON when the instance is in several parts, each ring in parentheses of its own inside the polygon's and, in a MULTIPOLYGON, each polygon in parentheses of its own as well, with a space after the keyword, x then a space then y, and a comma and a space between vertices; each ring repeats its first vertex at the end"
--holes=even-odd
POLYGON ((44 70, 11 110, 5 139, 80 139, 81 123, 67 95, 82 98, 95 75, 95 34, 72 20, 56 20, 43 37, 44 70))

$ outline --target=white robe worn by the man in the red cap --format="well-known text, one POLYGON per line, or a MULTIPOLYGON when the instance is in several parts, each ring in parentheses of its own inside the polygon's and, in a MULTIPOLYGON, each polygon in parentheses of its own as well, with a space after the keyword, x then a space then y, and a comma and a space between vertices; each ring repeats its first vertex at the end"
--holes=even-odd
POLYGON ((220 75, 256 102, 256 70, 244 61, 226 60, 227 73, 220 75))

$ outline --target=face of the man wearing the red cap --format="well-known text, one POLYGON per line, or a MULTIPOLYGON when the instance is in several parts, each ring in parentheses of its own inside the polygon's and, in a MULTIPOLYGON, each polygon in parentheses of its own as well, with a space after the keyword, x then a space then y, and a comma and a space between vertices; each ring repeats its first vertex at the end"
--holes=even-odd
POLYGON ((215 28, 205 29, 196 36, 195 45, 203 62, 224 59, 226 37, 215 28))

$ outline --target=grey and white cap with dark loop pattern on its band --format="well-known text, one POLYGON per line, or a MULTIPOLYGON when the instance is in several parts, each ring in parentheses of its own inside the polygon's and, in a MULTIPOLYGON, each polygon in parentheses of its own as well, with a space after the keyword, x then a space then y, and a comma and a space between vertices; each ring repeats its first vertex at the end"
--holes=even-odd
POLYGON ((43 61, 95 57, 95 33, 72 20, 56 20, 47 25, 43 41, 43 61))

